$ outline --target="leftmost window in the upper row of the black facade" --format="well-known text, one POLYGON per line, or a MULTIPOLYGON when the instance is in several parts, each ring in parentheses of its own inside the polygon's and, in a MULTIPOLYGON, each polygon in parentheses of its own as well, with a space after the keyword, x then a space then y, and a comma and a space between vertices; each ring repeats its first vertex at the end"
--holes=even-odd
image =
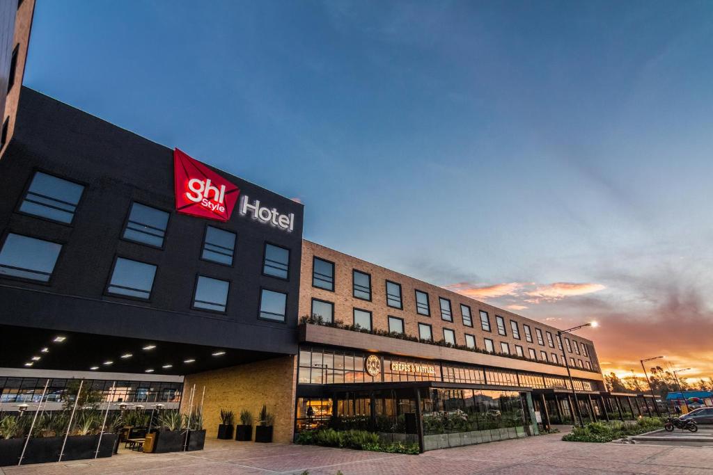
POLYGON ((19 211, 69 224, 74 218, 83 191, 81 184, 36 172, 19 211))

